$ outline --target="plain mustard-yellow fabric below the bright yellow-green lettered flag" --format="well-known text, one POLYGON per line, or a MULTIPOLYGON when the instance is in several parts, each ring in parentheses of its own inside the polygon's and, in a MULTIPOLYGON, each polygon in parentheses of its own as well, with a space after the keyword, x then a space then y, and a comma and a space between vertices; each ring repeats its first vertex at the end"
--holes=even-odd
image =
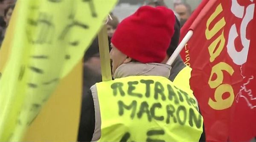
POLYGON ((27 130, 23 142, 76 142, 80 122, 82 62, 63 79, 27 130))

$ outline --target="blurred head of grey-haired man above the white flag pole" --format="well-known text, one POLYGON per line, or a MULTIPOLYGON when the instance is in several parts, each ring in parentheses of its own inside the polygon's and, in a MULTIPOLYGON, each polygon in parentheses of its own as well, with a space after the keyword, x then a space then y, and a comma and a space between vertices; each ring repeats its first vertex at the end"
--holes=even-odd
POLYGON ((182 27, 192 13, 191 7, 187 3, 177 3, 174 10, 180 17, 180 25, 182 27))

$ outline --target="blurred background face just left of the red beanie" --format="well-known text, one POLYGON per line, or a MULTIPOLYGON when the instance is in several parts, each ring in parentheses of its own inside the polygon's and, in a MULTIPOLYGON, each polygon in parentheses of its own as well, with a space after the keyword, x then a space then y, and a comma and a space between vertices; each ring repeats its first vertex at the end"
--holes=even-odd
POLYGON ((116 31, 116 27, 119 24, 119 20, 116 16, 114 16, 112 13, 110 14, 111 19, 108 20, 107 22, 107 32, 108 32, 108 38, 111 39, 111 37, 113 36, 113 34, 116 31))

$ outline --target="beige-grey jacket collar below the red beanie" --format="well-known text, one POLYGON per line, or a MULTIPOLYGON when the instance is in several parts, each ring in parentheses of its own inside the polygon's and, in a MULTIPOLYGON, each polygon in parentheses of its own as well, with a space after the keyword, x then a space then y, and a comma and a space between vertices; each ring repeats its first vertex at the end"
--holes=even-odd
POLYGON ((172 67, 167 64, 129 62, 121 64, 115 71, 113 78, 127 76, 154 75, 169 78, 172 67))

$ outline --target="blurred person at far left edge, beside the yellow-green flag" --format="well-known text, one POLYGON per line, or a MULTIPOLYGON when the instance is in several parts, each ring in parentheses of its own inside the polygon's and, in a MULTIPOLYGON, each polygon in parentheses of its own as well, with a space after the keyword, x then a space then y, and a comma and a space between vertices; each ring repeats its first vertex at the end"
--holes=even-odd
POLYGON ((9 5, 7 6, 7 8, 4 10, 4 22, 5 22, 5 27, 2 29, 2 33, 0 35, 0 45, 2 45, 5 33, 6 33, 6 29, 9 25, 11 16, 12 16, 12 11, 14 10, 15 5, 9 5))

